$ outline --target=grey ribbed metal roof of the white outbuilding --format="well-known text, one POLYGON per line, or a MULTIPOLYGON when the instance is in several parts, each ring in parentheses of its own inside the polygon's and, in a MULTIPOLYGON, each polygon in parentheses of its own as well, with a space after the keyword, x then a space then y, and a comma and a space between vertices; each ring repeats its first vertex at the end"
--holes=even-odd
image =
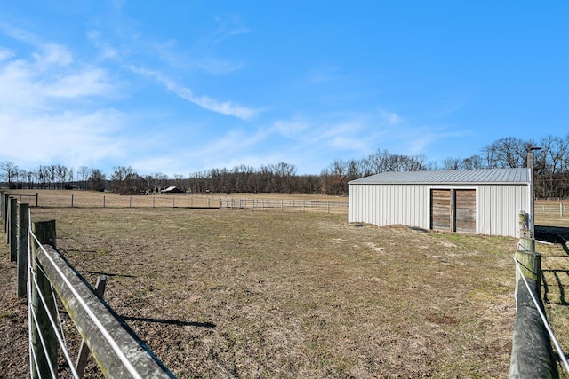
POLYGON ((361 179, 350 185, 375 184, 528 184, 530 169, 484 169, 484 170, 427 170, 389 171, 361 179))

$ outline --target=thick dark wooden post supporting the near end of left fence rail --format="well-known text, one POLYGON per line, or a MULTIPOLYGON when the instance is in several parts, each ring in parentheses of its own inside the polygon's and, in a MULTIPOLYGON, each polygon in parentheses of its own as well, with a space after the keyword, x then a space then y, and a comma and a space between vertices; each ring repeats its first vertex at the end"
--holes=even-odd
MULTIPOLYGON (((32 224, 32 231, 41 244, 49 244, 55 247, 55 220, 37 221, 32 224)), ((32 278, 29 280, 36 281, 36 283, 32 281, 31 298, 32 313, 36 315, 36 321, 32 322, 31 327, 32 348, 36 358, 30 360, 32 362, 32 377, 42 378, 51 376, 52 369, 57 373, 58 342, 55 330, 53 330, 49 320, 49 317, 55 319, 56 309, 50 281, 45 277, 44 270, 36 257, 38 254, 42 254, 41 247, 37 246, 35 241, 32 246, 32 275, 36 280, 32 278), (44 307, 40 296, 44 298, 47 309, 44 307)))

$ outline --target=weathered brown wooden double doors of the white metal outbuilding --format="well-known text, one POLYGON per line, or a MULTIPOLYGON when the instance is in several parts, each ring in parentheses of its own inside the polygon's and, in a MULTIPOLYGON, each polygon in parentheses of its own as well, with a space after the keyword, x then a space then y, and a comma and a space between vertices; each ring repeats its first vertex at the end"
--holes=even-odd
POLYGON ((477 232, 477 195, 473 189, 431 189, 430 228, 477 232))

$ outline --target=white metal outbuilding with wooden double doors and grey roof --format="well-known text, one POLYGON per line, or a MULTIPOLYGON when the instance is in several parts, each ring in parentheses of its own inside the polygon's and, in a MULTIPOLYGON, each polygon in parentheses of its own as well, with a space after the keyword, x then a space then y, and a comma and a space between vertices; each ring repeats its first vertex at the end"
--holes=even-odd
POLYGON ((349 182, 348 220, 518 237, 531 198, 530 169, 384 172, 349 182))

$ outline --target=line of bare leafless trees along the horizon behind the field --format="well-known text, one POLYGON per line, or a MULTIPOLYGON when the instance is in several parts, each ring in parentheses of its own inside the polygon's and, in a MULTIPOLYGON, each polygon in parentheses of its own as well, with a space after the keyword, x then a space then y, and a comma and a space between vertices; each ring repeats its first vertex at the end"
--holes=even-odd
POLYGON ((547 136, 539 141, 500 138, 484 146, 480 154, 467 158, 447 157, 429 163, 424 155, 392 154, 377 150, 359 160, 335 160, 318 175, 299 175, 296 167, 286 162, 262 165, 260 168, 240 165, 233 169, 211 169, 190 173, 187 177, 170 178, 158 172, 140 175, 132 167, 117 166, 105 174, 99 169, 78 170, 56 165, 40 165, 36 170, 20 170, 12 162, 0 162, 0 179, 10 188, 83 189, 120 194, 159 193, 177 186, 191 193, 320 193, 346 195, 353 179, 386 171, 474 170, 527 167, 530 148, 535 151, 536 196, 565 198, 569 196, 569 134, 547 136))

